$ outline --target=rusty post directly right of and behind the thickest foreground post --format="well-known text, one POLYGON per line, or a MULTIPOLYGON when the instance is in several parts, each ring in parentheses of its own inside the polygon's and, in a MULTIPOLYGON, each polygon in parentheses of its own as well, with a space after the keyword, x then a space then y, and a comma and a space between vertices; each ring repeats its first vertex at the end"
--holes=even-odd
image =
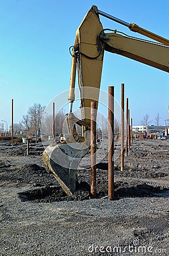
POLYGON ((121 84, 121 171, 124 169, 124 84, 121 84))

